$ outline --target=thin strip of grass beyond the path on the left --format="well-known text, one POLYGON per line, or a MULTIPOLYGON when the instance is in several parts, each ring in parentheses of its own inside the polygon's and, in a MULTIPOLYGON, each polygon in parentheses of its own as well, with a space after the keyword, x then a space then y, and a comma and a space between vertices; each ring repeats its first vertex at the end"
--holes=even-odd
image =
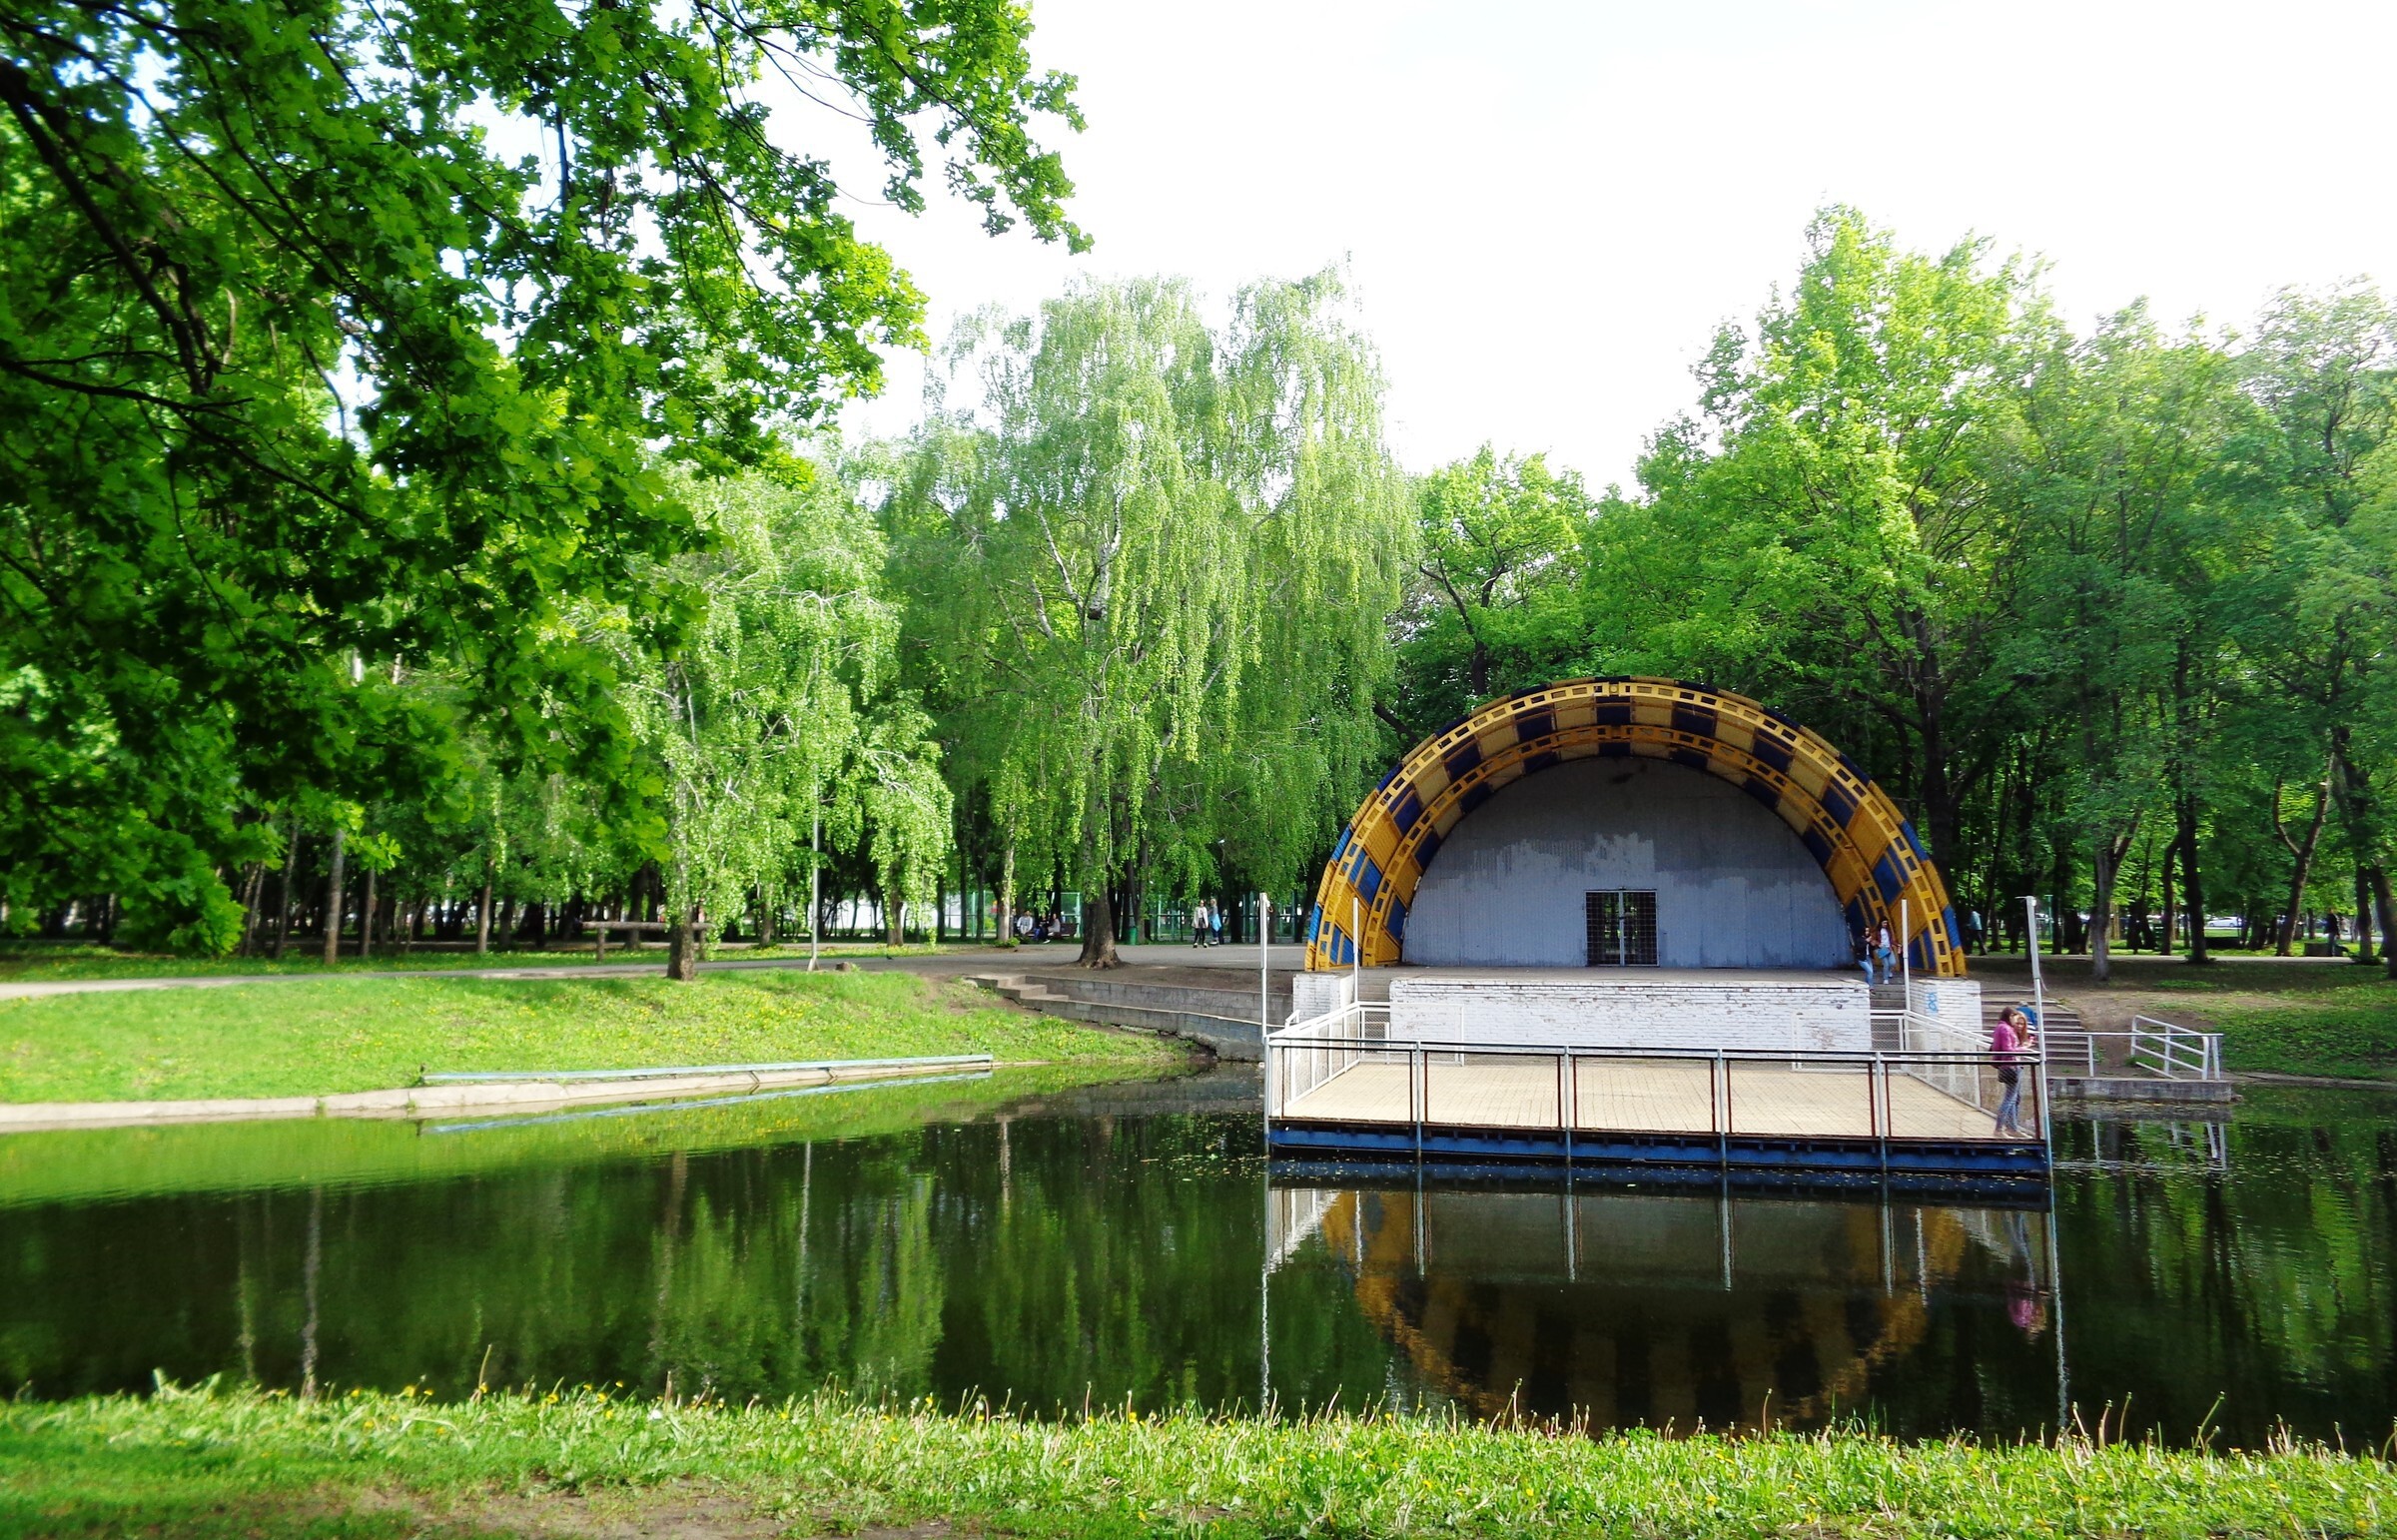
MULTIPOLYGON (((870 940, 829 940, 822 948, 825 957, 935 957, 940 952, 973 952, 983 950, 983 943, 916 943, 904 948, 892 948, 870 940)), ((772 948, 717 948, 717 962, 731 960, 762 960, 762 957, 805 957, 808 943, 786 945, 777 943, 772 948)), ((177 957, 173 952, 122 952, 117 948, 86 945, 74 940, 0 940, 0 983, 65 983, 72 979, 225 979, 225 976, 326 976, 326 974, 412 974, 412 971, 443 971, 443 969, 477 969, 477 967, 575 967, 597 962, 597 952, 590 945, 575 948, 549 948, 547 952, 535 952, 530 948, 518 950, 491 950, 475 955, 472 950, 417 950, 398 952, 386 950, 374 957, 360 960, 343 952, 340 962, 331 969, 324 964, 314 948, 292 948, 283 962, 271 957, 177 957)), ((640 950, 626 950, 623 943, 609 943, 606 950, 609 967, 621 962, 647 962, 657 969, 666 967, 666 948, 650 943, 640 950)))

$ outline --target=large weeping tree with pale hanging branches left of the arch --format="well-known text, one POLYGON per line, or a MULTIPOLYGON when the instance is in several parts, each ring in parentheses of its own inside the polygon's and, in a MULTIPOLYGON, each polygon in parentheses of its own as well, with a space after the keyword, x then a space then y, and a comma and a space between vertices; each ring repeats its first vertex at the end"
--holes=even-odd
POLYGON ((1366 777, 1409 530, 1338 278, 1225 326, 1177 281, 1091 283, 964 326, 940 391, 884 511, 1009 873, 1081 890, 1088 967, 1134 878, 1292 883, 1366 777))

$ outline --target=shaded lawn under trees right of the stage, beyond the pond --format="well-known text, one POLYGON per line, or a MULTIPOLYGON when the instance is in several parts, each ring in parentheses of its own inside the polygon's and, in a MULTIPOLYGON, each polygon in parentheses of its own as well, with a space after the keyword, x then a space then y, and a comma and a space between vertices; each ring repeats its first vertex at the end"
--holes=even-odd
MULTIPOLYGON (((2021 962, 1975 957, 1973 974, 2028 976, 2021 962)), ((2117 960, 2093 983, 2085 960, 2054 960, 2047 983, 2100 1031, 2150 1015, 2222 1034, 2232 1070, 2397 1082, 2397 983, 2378 967, 2222 957, 2208 967, 2117 960)))

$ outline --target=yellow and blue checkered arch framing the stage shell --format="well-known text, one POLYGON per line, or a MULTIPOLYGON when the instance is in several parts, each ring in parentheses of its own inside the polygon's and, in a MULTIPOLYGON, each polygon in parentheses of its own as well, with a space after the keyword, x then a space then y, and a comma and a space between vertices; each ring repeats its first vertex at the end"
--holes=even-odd
POLYGON ((1491 700, 1414 746, 1333 849, 1306 921, 1306 967, 1395 964, 1407 904, 1441 842, 1501 787, 1575 758, 1640 756, 1719 775, 1791 825, 1822 864, 1848 928, 1908 936, 1913 969, 1963 976, 1946 883, 1913 825, 1822 734, 1745 696, 1676 679, 1570 679, 1491 700), (1903 904, 1901 904, 1903 900, 1903 904), (1354 904, 1354 907, 1352 907, 1354 904), (1350 916, 1361 916, 1350 933, 1350 916))

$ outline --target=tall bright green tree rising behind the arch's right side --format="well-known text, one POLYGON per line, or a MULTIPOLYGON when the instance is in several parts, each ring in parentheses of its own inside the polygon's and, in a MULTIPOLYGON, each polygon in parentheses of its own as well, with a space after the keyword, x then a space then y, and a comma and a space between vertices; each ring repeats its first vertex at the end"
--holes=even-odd
POLYGON ((1692 672, 1862 741, 1961 868, 1997 763, 2023 384, 2054 345, 2033 273, 1980 240, 1906 252, 1850 209, 1807 230, 1755 338, 1726 326, 1589 554, 1592 667, 1692 672))

